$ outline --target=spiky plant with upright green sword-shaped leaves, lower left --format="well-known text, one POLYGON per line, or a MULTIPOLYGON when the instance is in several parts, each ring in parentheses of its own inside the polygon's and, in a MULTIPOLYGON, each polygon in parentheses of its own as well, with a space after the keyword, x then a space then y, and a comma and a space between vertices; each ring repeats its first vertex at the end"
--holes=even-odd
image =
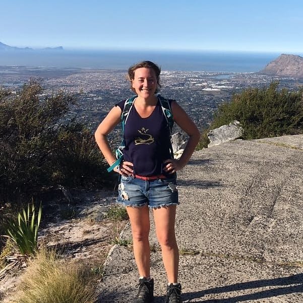
POLYGON ((10 223, 8 234, 17 244, 22 255, 34 255, 37 249, 38 228, 42 214, 41 204, 36 215, 34 203, 23 208, 16 221, 10 223))

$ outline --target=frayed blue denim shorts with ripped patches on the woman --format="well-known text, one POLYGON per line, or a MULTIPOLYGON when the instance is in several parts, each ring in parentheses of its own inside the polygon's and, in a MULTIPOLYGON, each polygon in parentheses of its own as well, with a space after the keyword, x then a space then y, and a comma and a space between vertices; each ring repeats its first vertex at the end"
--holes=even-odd
POLYGON ((155 180, 122 176, 117 202, 132 207, 148 205, 150 208, 177 205, 179 202, 175 174, 155 180))

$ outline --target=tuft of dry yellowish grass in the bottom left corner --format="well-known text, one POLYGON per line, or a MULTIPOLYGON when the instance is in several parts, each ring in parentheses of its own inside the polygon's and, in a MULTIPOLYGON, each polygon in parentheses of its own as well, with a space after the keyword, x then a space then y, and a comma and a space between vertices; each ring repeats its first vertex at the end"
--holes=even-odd
POLYGON ((75 263, 62 266, 54 252, 41 249, 30 261, 14 303, 93 303, 94 289, 75 263))

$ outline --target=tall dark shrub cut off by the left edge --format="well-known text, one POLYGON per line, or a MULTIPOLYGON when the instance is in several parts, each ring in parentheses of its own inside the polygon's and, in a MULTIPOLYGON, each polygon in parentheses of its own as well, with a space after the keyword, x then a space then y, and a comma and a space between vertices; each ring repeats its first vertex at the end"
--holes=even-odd
POLYGON ((57 123, 75 99, 61 91, 42 92, 39 83, 30 81, 17 94, 0 94, 1 200, 18 200, 50 183, 57 123))

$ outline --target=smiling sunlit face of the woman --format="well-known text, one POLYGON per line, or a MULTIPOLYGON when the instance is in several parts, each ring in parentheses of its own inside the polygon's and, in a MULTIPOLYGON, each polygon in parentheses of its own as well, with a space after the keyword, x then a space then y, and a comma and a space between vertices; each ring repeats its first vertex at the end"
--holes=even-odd
POLYGON ((140 68, 135 70, 132 85, 138 96, 144 99, 153 96, 157 89, 157 77, 155 71, 149 68, 140 68))

